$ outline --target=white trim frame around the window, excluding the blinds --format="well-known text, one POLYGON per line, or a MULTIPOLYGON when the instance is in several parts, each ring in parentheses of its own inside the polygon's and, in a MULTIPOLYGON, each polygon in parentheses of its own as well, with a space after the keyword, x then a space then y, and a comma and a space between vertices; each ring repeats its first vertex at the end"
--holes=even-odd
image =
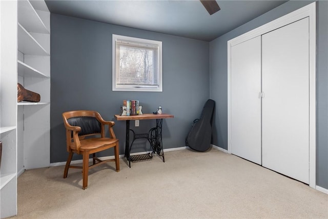
POLYGON ((153 41, 151 39, 136 38, 130 36, 122 36, 113 34, 112 39, 112 91, 145 91, 145 92, 162 92, 163 91, 163 76, 162 76, 162 42, 153 41), (126 41, 133 41, 137 43, 147 43, 147 44, 156 44, 158 45, 158 81, 159 86, 156 88, 147 88, 147 87, 131 87, 127 85, 126 87, 117 87, 116 86, 116 40, 122 39, 126 41))

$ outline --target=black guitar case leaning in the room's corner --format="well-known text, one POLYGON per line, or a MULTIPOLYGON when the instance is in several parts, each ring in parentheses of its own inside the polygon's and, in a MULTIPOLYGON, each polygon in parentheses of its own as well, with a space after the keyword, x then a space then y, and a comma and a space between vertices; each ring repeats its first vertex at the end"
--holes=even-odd
POLYGON ((212 121, 215 102, 208 99, 205 103, 200 118, 194 124, 186 138, 186 145, 196 151, 207 151, 211 147, 212 121))

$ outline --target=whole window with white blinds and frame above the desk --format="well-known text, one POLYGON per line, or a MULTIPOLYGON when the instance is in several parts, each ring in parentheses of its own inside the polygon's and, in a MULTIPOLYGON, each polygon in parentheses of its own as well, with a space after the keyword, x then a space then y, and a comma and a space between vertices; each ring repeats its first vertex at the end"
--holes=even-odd
POLYGON ((162 92, 162 42, 113 34, 112 88, 162 92))

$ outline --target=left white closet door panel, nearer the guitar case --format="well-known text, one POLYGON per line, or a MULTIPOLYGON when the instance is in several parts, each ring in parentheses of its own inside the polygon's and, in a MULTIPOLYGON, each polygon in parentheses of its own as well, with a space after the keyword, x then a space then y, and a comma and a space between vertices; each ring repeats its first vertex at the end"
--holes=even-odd
POLYGON ((261 164, 261 36, 231 48, 231 153, 261 164))

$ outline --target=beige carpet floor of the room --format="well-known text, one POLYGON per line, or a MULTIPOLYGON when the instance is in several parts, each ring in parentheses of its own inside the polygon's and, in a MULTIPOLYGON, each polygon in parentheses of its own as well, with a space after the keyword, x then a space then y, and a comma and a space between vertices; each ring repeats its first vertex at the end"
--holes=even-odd
POLYGON ((165 163, 120 159, 89 171, 64 166, 18 177, 13 218, 328 218, 328 195, 217 149, 165 152, 165 163))

